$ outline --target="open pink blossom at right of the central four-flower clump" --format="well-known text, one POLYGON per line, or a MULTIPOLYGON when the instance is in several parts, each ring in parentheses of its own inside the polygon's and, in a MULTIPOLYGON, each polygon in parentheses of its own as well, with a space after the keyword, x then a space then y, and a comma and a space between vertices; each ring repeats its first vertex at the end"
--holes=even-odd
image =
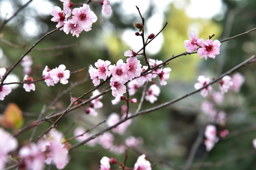
POLYGON ((128 80, 140 76, 142 71, 140 61, 136 57, 129 57, 126 60, 128 80))

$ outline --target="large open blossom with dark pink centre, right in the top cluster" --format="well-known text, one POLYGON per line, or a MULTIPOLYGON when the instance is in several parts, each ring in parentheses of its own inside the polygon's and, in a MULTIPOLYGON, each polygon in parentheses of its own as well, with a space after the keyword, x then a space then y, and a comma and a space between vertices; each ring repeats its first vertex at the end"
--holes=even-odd
POLYGON ((92 23, 97 21, 97 16, 91 11, 88 4, 83 4, 80 8, 72 10, 73 18, 70 19, 72 24, 81 24, 84 31, 90 31, 92 23))

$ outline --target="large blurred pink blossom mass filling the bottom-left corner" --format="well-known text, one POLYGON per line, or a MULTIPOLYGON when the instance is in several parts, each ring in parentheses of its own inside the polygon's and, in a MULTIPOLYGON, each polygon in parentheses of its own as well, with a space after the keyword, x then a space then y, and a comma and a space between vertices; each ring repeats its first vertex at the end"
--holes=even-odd
MULTIPOLYGON (((8 153, 18 148, 18 141, 0 128, 0 169, 8 161, 8 153)), ((37 143, 23 145, 18 151, 18 168, 22 170, 43 170, 45 164, 55 164, 58 170, 69 162, 68 147, 61 132, 52 129, 37 143)))

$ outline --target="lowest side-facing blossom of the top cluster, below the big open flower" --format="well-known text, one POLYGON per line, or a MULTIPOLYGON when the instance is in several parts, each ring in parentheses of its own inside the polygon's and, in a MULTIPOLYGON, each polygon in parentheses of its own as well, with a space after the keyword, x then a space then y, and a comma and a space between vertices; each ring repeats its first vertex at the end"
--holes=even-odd
POLYGON ((64 21, 63 31, 66 34, 69 34, 69 32, 70 32, 70 34, 72 34, 72 36, 75 35, 78 38, 79 34, 82 33, 83 28, 80 23, 73 24, 73 23, 71 23, 71 19, 69 19, 68 21, 64 21))

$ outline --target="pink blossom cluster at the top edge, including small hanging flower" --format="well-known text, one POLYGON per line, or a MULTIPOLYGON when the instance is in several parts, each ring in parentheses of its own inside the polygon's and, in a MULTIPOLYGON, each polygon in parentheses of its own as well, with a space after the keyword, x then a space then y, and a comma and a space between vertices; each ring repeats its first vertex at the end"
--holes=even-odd
MULTIPOLYGON (((60 0, 63 2, 63 9, 55 6, 51 15, 54 22, 58 22, 56 27, 61 27, 66 34, 71 33, 73 36, 79 37, 82 31, 90 31, 93 23, 97 21, 97 16, 88 4, 74 4, 70 0, 60 0), (73 8, 74 5, 80 5, 80 8, 73 8), (71 15, 72 14, 72 15, 71 15)), ((104 15, 111 14, 111 6, 109 0, 102 0, 102 13, 104 15)))

